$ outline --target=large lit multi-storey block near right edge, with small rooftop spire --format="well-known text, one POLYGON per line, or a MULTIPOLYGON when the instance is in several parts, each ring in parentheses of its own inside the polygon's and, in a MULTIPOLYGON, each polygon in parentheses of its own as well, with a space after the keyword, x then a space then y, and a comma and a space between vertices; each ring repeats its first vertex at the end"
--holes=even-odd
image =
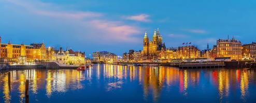
POLYGON ((242 46, 241 42, 235 40, 233 37, 230 39, 217 40, 217 57, 231 57, 231 60, 242 59, 242 46))

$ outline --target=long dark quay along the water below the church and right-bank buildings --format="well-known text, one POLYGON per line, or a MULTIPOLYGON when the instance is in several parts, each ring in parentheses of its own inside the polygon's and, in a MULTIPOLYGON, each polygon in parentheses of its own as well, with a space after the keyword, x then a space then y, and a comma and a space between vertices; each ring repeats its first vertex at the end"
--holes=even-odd
MULTIPOLYGON (((94 64, 105 64, 104 62, 93 62, 94 64)), ((119 62, 108 63, 113 65, 134 65, 134 66, 172 66, 184 68, 255 68, 256 62, 254 61, 208 61, 208 62, 119 62)))

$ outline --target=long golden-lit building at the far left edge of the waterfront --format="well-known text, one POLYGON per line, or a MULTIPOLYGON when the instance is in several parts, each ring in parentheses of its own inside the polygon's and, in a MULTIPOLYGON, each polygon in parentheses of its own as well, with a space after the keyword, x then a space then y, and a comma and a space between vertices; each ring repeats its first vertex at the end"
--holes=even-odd
POLYGON ((10 41, 7 44, 2 43, 0 37, 0 56, 6 59, 9 63, 33 63, 34 60, 46 61, 47 53, 44 43, 32 43, 31 45, 12 44, 10 41))

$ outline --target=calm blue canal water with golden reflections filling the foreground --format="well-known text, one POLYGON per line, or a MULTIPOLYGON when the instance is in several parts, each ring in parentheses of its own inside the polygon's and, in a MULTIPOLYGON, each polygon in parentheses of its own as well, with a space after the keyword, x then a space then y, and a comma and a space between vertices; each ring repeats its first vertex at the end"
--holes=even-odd
POLYGON ((256 72, 94 64, 86 71, 0 73, 0 102, 255 102, 256 72))

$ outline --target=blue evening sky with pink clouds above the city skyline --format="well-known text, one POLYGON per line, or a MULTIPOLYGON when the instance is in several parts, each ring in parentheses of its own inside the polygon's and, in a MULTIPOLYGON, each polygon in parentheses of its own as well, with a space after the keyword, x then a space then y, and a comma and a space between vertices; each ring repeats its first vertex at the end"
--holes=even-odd
POLYGON ((166 47, 217 39, 256 41, 256 1, 237 0, 0 0, 2 43, 42 43, 117 55, 143 49, 147 30, 159 28, 166 47))

